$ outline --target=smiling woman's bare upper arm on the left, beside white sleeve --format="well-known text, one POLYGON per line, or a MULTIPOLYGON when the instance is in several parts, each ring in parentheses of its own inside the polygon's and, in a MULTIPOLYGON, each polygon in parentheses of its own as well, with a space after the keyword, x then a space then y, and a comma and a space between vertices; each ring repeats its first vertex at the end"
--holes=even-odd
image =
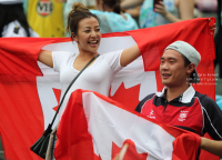
POLYGON ((53 68, 53 61, 52 61, 52 52, 42 50, 39 54, 38 60, 42 62, 43 64, 53 68))

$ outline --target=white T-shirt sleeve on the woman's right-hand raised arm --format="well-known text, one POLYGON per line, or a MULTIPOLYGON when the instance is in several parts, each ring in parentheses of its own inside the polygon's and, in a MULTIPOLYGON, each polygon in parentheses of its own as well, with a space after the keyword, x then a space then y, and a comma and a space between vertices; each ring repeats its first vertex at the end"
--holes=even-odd
POLYGON ((113 72, 119 71, 120 69, 123 68, 120 64, 120 58, 121 58, 122 51, 123 50, 118 50, 114 52, 105 53, 105 61, 113 72))

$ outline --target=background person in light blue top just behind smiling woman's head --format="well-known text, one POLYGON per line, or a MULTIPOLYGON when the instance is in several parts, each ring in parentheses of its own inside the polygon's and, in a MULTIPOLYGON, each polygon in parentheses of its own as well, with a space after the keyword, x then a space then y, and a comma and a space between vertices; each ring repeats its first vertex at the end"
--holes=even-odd
POLYGON ((100 19, 102 33, 138 29, 135 20, 121 11, 119 0, 97 0, 95 9, 90 11, 100 19))

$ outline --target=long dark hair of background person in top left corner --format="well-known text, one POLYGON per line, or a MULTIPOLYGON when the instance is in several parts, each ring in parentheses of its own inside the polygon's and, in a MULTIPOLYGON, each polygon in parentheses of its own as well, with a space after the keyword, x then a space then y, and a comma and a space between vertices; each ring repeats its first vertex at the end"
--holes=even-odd
POLYGON ((18 20, 27 32, 27 37, 30 37, 29 24, 23 11, 22 3, 18 4, 0 4, 0 37, 2 37, 3 27, 10 22, 18 20))

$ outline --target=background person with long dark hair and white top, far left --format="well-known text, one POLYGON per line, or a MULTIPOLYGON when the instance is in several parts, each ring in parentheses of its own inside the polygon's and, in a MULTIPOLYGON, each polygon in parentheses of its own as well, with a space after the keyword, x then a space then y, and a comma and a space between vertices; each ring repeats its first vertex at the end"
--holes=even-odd
POLYGON ((39 37, 27 22, 22 2, 22 0, 0 1, 0 38, 39 37))

